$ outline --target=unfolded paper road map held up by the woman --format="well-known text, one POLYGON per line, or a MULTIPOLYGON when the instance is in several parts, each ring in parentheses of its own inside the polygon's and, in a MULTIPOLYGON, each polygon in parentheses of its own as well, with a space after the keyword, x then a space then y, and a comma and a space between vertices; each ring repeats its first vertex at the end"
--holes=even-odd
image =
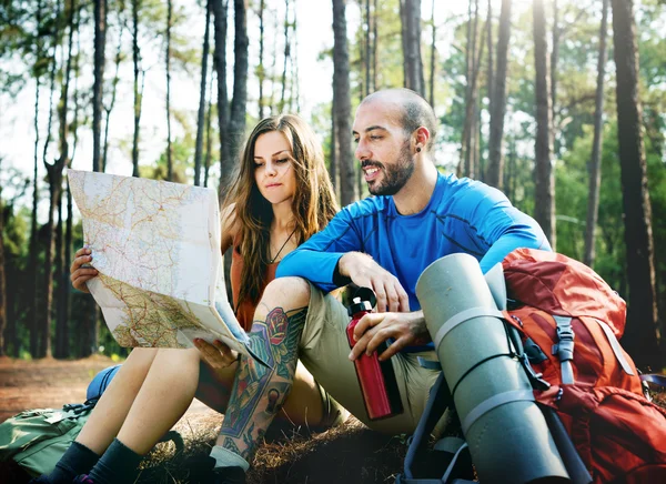
POLYGON ((226 298, 214 190, 77 170, 68 178, 99 271, 88 288, 121 346, 191 347, 200 337, 252 354, 226 298))

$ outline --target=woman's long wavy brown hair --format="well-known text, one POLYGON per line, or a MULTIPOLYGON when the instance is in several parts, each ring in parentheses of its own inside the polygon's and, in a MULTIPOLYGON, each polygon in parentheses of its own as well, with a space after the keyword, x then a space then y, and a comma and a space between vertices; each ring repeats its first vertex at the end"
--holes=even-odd
POLYGON ((236 307, 242 301, 259 302, 270 254, 270 229, 273 221, 271 202, 260 193, 254 180, 254 145, 256 139, 279 131, 292 148, 290 161, 296 175, 292 202, 296 243, 305 242, 322 230, 337 212, 337 202, 324 164, 324 154, 312 129, 297 115, 265 118, 256 124, 241 153, 234 182, 224 205, 235 204, 235 221, 240 253, 243 258, 241 285, 236 307))

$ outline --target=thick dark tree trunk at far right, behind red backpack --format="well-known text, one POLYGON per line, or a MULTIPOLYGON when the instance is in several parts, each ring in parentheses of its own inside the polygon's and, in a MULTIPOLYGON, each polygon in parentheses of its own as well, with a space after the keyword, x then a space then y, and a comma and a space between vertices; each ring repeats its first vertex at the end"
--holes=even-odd
POLYGON ((652 209, 647 190, 638 52, 633 0, 612 0, 613 46, 617 69, 617 139, 622 169, 627 279, 629 284, 624 343, 638 366, 663 367, 659 354, 652 209))

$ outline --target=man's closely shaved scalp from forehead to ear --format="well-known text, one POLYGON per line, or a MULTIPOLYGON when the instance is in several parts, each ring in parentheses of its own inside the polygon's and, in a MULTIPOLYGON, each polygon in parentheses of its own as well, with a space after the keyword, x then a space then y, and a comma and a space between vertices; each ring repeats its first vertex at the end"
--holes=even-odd
POLYGON ((425 151, 432 151, 437 133, 437 119, 433 108, 416 92, 410 89, 384 89, 367 95, 361 102, 361 105, 364 104, 395 107, 394 121, 403 128, 407 135, 421 127, 426 128, 430 131, 430 139, 425 145, 425 151))

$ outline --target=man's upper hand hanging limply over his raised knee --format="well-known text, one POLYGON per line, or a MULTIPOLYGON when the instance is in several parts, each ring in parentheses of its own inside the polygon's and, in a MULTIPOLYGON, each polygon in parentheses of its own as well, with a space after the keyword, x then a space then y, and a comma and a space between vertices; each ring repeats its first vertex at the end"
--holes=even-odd
POLYGON ((408 312, 410 298, 395 275, 383 269, 370 255, 349 252, 337 263, 341 275, 346 275, 361 288, 370 288, 377 296, 377 312, 408 312))

